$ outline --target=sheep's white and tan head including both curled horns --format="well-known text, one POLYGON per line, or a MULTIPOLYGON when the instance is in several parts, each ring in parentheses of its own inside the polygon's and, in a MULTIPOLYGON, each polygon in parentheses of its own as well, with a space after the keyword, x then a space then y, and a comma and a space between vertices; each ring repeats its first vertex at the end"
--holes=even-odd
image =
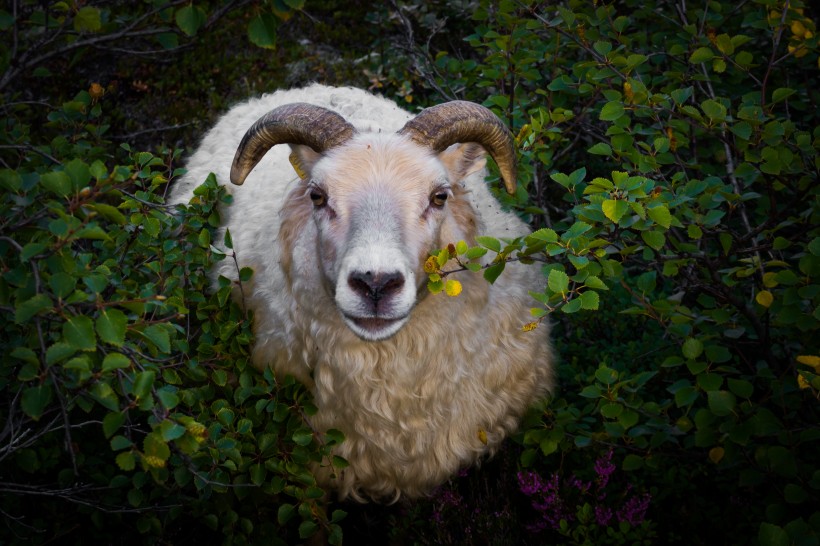
POLYGON ((425 291, 427 252, 469 239, 472 216, 459 182, 484 166, 485 150, 515 191, 515 152, 506 126, 478 104, 424 110, 394 134, 358 133, 339 114, 289 104, 262 116, 234 157, 242 184, 265 153, 291 146, 303 199, 312 203, 325 285, 359 337, 386 339, 425 291))

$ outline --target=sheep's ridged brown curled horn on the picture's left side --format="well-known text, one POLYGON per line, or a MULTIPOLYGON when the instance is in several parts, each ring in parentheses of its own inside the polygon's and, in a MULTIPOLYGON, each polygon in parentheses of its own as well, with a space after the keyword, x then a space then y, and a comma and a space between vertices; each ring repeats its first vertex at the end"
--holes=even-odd
POLYGON ((277 144, 303 144, 322 153, 343 144, 355 133, 356 129, 342 116, 321 106, 297 102, 274 108, 242 137, 231 165, 231 182, 242 184, 277 144))

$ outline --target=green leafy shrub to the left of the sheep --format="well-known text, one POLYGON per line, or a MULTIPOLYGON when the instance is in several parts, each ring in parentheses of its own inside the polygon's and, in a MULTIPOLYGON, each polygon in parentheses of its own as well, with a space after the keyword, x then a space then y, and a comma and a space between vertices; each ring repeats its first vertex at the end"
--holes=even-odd
POLYGON ((52 116, 51 145, 0 171, 4 532, 79 543, 115 518, 146 542, 198 521, 227 543, 321 527, 338 543, 344 513, 324 513, 311 467, 341 434, 309 428, 303 386, 251 368, 251 317, 229 297, 241 284, 206 281, 233 258, 211 244, 224 189, 211 177, 171 210, 179 152, 109 166, 102 116, 81 92, 52 116))

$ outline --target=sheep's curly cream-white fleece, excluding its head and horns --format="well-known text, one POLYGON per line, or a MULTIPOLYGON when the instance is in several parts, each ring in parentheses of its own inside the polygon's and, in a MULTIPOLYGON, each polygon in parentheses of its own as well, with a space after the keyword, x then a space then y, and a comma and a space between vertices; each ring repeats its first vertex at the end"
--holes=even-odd
MULTIPOLYGON (((205 136, 171 201, 189 199, 209 172, 226 182, 245 130, 262 114, 292 102, 337 111, 360 133, 373 133, 377 146, 392 141, 376 133, 392 134, 411 118, 395 103, 352 88, 313 85, 252 99, 205 136)), ((511 263, 493 285, 477 275, 456 274, 461 295, 428 296, 422 289, 398 333, 363 340, 346 326, 322 278, 312 207, 288 153, 287 146, 271 149, 241 188, 229 188, 234 203, 222 211, 239 267, 255 271, 244 286, 255 317, 253 361, 307 384, 319 410, 312 426, 345 434, 335 454, 349 466, 335 473, 317 468, 320 483, 358 500, 424 495, 492 453, 550 388, 548 327, 521 328, 531 320, 528 291, 541 290, 539 273, 511 263)), ((480 169, 455 185, 448 201, 453 219, 441 228, 441 246, 455 237, 470 242, 478 233, 528 232, 514 214, 501 210, 485 175, 480 169)), ((224 261, 212 274, 235 279, 236 268, 224 261)))

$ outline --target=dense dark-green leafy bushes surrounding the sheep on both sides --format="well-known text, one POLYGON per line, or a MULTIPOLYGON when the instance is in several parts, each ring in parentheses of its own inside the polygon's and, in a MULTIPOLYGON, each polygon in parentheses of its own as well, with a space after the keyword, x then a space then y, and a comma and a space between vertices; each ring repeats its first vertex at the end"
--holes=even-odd
MULTIPOLYGON (((250 4, 239 24, 262 46, 272 17, 312 9, 250 4)), ((8 542, 293 543, 319 528, 338 542, 350 523, 309 472, 344 465, 328 457, 343 438, 306 425, 302 386, 250 368, 252 317, 227 281, 207 286, 209 265, 232 259, 229 238, 211 240, 225 181, 169 210, 180 152, 113 145, 112 120, 128 115, 116 93, 57 88, 69 98, 44 107, 20 85, 58 82, 58 68, 124 28, 145 31, 145 51, 184 54, 240 5, 0 11, 4 37, 53 37, 38 46, 47 59, 0 45, 13 72, 0 127, 8 542)), ((542 268, 521 326, 543 335, 552 322, 560 353, 556 392, 514 441, 386 515, 382 532, 422 544, 818 544, 812 14, 770 0, 417 2, 373 7, 361 24, 372 43, 352 55, 367 54, 360 77, 408 106, 483 102, 521 152, 518 193, 498 196, 533 233, 453 241, 433 253, 444 271, 431 288, 446 289, 451 257, 479 269, 471 258, 497 254, 488 281, 509 260, 542 268)))

